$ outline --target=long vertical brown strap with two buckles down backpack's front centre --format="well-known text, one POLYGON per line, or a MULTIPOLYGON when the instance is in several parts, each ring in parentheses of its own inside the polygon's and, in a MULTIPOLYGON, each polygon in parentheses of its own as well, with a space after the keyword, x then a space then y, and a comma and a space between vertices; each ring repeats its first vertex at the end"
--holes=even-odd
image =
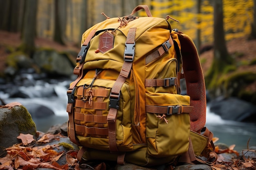
MULTIPOLYGON (((126 40, 126 44, 130 44, 133 45, 135 44, 135 32, 136 32, 136 28, 130 28, 128 31, 128 35, 127 35, 127 40, 126 40)), ((128 46, 126 47, 128 48, 128 46)), ((133 50, 134 50, 134 45, 133 45, 133 50)), ((117 80, 115 82, 115 84, 112 87, 111 93, 110 93, 110 109, 109 109, 109 113, 108 113, 108 117, 107 117, 107 121, 108 121, 108 143, 109 143, 109 149, 110 152, 118 152, 117 149, 117 144, 116 144, 116 118, 117 118, 117 110, 118 110, 118 106, 117 106, 117 102, 119 99, 119 93, 121 91, 121 87, 123 86, 124 82, 126 81, 126 78, 128 77, 128 75, 130 74, 130 70, 132 68, 132 60, 134 56, 131 56, 129 54, 124 54, 124 58, 128 58, 130 60, 124 60, 124 64, 121 68, 121 72, 119 74, 119 76, 117 77, 117 80), (117 101, 116 103, 114 103, 114 106, 111 106, 111 99, 114 99, 113 101, 117 101), (116 105, 116 106, 115 106, 116 105)))

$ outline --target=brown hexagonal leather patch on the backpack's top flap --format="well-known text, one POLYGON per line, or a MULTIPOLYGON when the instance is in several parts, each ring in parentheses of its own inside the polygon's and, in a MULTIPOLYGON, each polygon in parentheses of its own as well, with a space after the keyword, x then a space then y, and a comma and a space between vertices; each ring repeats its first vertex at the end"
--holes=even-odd
POLYGON ((114 35, 106 32, 99 37, 99 51, 105 53, 114 46, 114 35))

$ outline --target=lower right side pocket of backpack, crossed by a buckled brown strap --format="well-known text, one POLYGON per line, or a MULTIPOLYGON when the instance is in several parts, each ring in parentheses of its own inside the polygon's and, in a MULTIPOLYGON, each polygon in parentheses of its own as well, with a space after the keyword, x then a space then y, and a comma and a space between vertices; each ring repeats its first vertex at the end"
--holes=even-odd
POLYGON ((170 93, 146 94, 146 139, 154 157, 180 155, 189 148, 190 97, 170 93), (169 104, 169 105, 168 105, 169 104))

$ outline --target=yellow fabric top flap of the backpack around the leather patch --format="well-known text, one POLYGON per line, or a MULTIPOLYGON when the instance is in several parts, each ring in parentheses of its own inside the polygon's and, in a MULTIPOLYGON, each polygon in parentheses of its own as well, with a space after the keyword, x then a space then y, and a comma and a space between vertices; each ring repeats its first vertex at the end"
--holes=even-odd
MULTIPOLYGON (((141 17, 123 25, 119 18, 110 18, 94 25, 85 31, 82 36, 82 44, 90 35, 92 30, 96 30, 94 37, 90 41, 90 48, 85 58, 84 68, 95 69, 103 66, 102 69, 115 69, 120 72, 124 63, 124 51, 126 39, 130 28, 136 28, 135 33, 135 56, 133 66, 145 60, 145 55, 156 49, 170 38, 170 25, 162 18, 141 17), (113 36, 112 49, 104 53, 96 53, 103 47, 99 46, 101 35, 108 32, 113 36), (157 34, 157 36, 155 36, 157 34), (143 50, 141 50, 143 49, 143 50)), ((103 39, 106 41, 106 39, 103 39)), ((136 67, 136 66, 135 66, 136 67)))

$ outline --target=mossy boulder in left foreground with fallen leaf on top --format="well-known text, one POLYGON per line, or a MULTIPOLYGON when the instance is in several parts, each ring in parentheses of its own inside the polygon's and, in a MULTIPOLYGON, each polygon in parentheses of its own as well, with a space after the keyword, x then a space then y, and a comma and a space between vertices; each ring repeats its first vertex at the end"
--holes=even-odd
POLYGON ((18 102, 0 106, 0 155, 6 153, 5 148, 21 142, 17 139, 20 133, 36 139, 36 124, 27 109, 18 102))

